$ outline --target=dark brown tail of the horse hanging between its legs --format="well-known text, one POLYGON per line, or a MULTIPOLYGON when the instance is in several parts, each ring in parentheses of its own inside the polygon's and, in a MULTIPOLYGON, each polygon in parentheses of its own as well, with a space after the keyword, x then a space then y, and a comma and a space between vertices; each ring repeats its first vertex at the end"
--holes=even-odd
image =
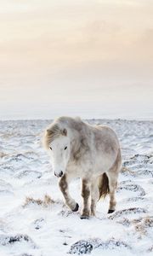
POLYGON ((101 197, 104 197, 110 193, 109 188, 109 179, 106 175, 106 173, 103 173, 99 177, 99 199, 101 197))

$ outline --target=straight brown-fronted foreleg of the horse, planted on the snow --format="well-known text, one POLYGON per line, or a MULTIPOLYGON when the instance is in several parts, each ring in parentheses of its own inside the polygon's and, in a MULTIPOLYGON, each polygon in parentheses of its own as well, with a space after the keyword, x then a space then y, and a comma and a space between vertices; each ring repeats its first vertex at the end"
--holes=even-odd
POLYGON ((81 218, 89 218, 90 216, 90 183, 86 179, 82 179, 82 215, 81 218))

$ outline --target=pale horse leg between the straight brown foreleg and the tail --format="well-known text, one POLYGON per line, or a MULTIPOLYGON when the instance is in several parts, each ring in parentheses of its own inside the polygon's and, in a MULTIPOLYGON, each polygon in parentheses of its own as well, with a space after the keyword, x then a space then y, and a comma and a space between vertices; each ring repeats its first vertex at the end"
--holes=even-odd
POLYGON ((99 178, 94 179, 91 185, 91 215, 95 216, 96 205, 99 200, 99 178))

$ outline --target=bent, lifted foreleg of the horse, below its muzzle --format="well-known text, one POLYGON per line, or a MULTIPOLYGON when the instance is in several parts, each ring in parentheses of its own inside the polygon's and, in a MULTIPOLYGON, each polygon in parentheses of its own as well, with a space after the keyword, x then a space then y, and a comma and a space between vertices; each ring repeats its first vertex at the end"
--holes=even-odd
POLYGON ((71 198, 71 195, 69 194, 69 186, 68 183, 71 182, 72 177, 68 177, 66 174, 60 178, 59 180, 59 189, 61 190, 62 194, 65 198, 65 204, 71 208, 73 212, 77 212, 79 205, 77 204, 74 199, 71 198))

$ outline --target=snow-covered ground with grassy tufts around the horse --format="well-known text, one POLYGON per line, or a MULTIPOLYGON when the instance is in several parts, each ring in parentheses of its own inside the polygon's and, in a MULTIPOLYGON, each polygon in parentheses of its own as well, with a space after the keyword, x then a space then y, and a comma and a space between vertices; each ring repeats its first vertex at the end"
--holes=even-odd
MULTIPOLYGON (((49 120, 0 121, 0 256, 153 254, 153 121, 89 120, 115 129, 122 146, 116 212, 97 218, 63 203, 41 145, 49 120), (71 255, 70 254, 70 255, 71 255)), ((82 203, 80 181, 71 195, 82 203)))

